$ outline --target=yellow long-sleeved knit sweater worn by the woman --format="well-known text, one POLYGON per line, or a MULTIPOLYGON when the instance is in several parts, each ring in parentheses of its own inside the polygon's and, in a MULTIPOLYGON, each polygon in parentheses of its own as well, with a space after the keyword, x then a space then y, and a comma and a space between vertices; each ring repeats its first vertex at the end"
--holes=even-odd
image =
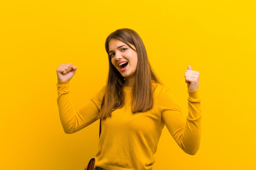
MULTIPOLYGON (((131 87, 124 87, 125 105, 103 119, 99 150, 95 167, 106 170, 152 170, 153 155, 164 126, 184 150, 194 155, 201 137, 201 97, 197 91, 188 91, 189 114, 182 115, 173 93, 160 84, 153 83, 154 106, 145 113, 131 112, 131 87)), ((102 88, 80 110, 74 110, 69 82, 58 82, 58 108, 66 133, 74 133, 97 120, 104 95, 102 88)), ((168 146, 166 146, 168 147, 168 146)))

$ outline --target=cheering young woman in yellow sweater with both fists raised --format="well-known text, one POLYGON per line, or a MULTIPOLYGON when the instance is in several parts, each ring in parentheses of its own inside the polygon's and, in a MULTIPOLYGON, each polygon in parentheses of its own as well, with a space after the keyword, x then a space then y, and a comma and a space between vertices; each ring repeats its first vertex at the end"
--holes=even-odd
POLYGON ((164 126, 184 152, 194 155, 201 136, 199 73, 191 66, 185 72, 189 114, 184 119, 173 93, 153 72, 144 43, 135 31, 111 33, 105 47, 108 82, 78 111, 69 90, 76 66, 61 64, 57 68, 57 101, 64 131, 74 133, 102 120, 95 170, 152 170, 164 126))

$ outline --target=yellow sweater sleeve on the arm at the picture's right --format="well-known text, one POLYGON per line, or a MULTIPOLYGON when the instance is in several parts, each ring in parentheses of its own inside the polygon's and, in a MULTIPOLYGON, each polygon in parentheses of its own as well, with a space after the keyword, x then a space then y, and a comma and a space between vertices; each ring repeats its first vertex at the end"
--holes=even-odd
POLYGON ((169 90, 162 98, 161 110, 166 127, 180 148, 189 155, 195 155, 201 138, 201 96, 198 90, 188 93, 189 113, 186 119, 169 90))

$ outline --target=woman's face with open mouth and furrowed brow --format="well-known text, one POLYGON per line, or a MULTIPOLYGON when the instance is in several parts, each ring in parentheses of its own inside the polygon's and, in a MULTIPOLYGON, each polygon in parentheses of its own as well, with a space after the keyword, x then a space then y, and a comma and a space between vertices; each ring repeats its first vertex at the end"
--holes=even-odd
MULTIPOLYGON (((130 46, 136 50, 135 46, 131 44, 130 46)), ((137 51, 130 48, 130 46, 120 40, 111 39, 108 44, 108 53, 111 56, 112 64, 117 68, 119 73, 121 73, 126 80, 128 79, 135 82, 138 55, 137 51)))

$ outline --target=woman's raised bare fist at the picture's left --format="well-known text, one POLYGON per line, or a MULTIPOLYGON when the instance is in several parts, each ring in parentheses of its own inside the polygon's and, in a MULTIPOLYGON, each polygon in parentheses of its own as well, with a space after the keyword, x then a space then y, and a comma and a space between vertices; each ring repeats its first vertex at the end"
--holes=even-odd
POLYGON ((72 64, 61 64, 57 68, 57 77, 59 81, 66 82, 70 81, 76 73, 76 66, 72 64))

